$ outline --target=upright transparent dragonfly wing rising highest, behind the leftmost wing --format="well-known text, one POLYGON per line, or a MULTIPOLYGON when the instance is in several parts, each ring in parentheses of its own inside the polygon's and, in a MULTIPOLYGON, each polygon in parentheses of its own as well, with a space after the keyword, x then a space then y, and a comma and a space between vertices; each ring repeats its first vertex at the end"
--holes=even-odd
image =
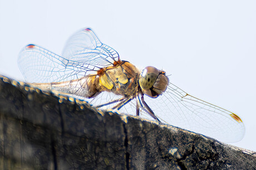
POLYGON ((90 28, 83 28, 67 40, 63 58, 103 68, 119 60, 119 54, 102 44, 90 28))

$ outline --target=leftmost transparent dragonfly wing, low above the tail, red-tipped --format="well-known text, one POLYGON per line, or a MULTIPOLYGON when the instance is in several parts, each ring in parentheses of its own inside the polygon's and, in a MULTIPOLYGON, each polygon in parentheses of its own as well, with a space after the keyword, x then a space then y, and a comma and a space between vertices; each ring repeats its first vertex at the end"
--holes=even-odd
POLYGON ((85 76, 87 71, 96 71, 88 68, 88 64, 67 60, 32 44, 19 53, 18 66, 29 83, 68 81, 85 76))

